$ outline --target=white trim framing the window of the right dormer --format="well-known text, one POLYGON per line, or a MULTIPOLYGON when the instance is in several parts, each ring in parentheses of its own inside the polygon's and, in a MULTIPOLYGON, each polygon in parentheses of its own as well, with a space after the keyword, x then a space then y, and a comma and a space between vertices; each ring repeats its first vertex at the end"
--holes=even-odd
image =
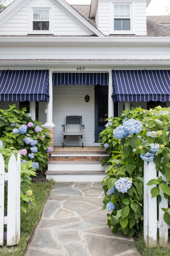
POLYGON ((110 34, 135 34, 135 3, 124 2, 110 2, 110 34), (128 19, 129 17, 114 17, 114 5, 130 5, 130 30, 114 30, 115 19, 128 19))

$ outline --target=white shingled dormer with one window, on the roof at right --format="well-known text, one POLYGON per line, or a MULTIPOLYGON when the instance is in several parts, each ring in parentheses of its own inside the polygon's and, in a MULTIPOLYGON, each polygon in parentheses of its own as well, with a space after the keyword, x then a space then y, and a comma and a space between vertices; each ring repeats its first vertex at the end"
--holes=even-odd
POLYGON ((151 0, 91 0, 90 18, 104 35, 146 35, 151 0))

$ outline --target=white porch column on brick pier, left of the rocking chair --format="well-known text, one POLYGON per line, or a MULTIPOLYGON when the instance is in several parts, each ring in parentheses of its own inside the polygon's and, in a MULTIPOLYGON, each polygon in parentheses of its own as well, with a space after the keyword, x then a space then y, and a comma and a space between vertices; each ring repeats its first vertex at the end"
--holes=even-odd
POLYGON ((53 71, 49 71, 49 103, 47 103, 47 122, 45 127, 54 127, 53 124, 53 71))

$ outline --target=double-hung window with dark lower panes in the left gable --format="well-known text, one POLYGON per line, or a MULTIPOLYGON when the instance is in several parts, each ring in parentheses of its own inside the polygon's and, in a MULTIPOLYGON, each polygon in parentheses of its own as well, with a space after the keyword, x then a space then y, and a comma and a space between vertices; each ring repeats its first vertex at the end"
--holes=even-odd
POLYGON ((49 31, 49 10, 33 10, 32 30, 49 31))

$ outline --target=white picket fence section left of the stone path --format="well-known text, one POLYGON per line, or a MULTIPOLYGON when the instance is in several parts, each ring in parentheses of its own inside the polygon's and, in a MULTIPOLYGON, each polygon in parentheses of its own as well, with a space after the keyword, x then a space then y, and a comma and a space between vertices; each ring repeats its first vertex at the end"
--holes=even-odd
POLYGON ((20 182, 21 160, 18 153, 17 160, 14 154, 8 162, 8 173, 5 172, 5 163, 0 154, 0 245, 4 243, 4 224, 7 224, 7 245, 16 245, 20 242, 20 182), (4 182, 8 181, 7 216, 4 217, 4 182))

